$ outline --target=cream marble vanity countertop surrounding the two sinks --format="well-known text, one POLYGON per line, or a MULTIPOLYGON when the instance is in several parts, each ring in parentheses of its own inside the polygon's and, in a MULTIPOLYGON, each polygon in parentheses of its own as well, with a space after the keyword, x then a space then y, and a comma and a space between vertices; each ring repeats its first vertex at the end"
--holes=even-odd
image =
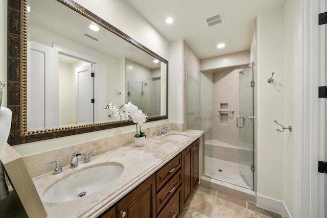
POLYGON ((33 182, 41 198, 43 192, 51 185, 83 168, 106 162, 117 162, 124 166, 122 175, 100 191, 63 203, 42 201, 48 217, 99 216, 188 147, 203 134, 203 131, 169 131, 168 134, 182 134, 188 136, 188 138, 172 141, 166 140, 162 136, 149 137, 146 138, 144 147, 136 147, 134 143, 129 144, 128 146, 91 157, 90 163, 83 163, 80 160, 79 166, 75 169, 65 166, 63 167, 63 173, 59 175, 53 175, 52 172, 49 172, 34 177, 33 182))

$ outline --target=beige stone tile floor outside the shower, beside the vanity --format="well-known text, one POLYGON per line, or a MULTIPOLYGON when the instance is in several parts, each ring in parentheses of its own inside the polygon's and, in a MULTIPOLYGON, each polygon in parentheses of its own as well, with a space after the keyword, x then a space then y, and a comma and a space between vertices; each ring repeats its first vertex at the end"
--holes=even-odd
POLYGON ((259 208, 251 202, 198 185, 186 203, 180 217, 281 218, 282 215, 259 208))

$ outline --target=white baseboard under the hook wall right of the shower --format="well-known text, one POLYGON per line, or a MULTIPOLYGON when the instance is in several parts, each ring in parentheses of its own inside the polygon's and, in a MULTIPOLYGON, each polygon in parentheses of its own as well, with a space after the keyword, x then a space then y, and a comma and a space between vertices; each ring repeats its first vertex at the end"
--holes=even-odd
POLYGON ((256 205, 266 210, 282 214, 284 218, 292 218, 285 203, 256 193, 256 205))

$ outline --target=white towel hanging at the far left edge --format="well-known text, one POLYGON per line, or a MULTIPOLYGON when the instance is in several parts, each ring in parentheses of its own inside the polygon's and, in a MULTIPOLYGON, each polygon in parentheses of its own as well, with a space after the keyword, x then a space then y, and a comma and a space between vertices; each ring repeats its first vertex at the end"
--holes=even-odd
POLYGON ((0 157, 2 156, 7 145, 8 136, 11 127, 12 112, 9 108, 1 107, 0 109, 0 157))

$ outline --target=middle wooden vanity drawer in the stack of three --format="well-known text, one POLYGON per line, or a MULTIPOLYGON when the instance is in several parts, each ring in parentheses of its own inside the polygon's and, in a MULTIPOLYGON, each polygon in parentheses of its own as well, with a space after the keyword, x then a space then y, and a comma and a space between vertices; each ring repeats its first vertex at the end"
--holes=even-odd
POLYGON ((167 201, 174 195, 177 188, 182 183, 181 169, 162 187, 162 189, 156 195, 156 208, 157 213, 165 206, 167 201))

